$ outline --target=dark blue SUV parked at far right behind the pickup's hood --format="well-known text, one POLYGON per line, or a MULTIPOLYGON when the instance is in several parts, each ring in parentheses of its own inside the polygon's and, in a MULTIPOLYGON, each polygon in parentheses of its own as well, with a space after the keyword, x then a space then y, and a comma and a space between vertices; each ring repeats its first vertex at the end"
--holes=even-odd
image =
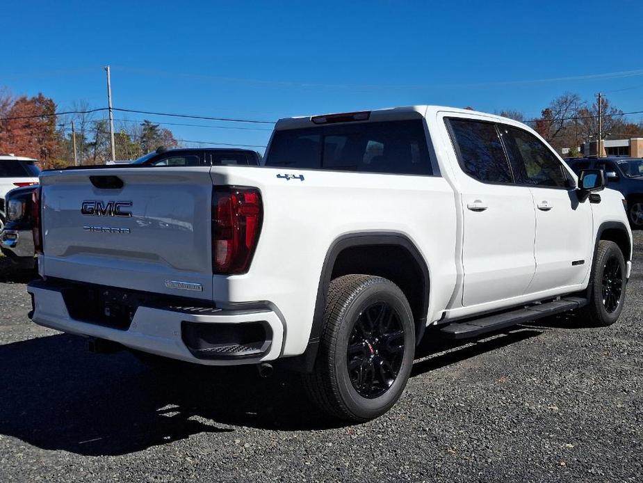
POLYGON ((630 157, 565 159, 575 173, 581 169, 602 169, 611 189, 621 191, 627 201, 632 228, 643 229, 643 159, 630 157))

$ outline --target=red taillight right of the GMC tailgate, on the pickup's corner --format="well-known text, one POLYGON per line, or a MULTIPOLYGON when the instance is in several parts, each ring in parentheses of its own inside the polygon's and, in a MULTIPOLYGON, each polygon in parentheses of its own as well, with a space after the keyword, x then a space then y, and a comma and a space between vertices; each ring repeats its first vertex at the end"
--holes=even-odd
POLYGON ((216 186, 212 190, 212 271, 244 274, 259 241, 263 207, 255 188, 216 186))

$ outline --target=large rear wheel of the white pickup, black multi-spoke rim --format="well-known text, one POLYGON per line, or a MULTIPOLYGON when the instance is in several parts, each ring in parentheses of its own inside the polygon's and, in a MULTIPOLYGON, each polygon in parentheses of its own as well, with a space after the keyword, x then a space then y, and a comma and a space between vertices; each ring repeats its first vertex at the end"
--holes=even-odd
POLYGON ((304 375, 311 400, 332 417, 354 422, 389 411, 406 386, 415 351, 413 315, 402 290, 377 276, 335 278, 323 322, 313 372, 304 375))

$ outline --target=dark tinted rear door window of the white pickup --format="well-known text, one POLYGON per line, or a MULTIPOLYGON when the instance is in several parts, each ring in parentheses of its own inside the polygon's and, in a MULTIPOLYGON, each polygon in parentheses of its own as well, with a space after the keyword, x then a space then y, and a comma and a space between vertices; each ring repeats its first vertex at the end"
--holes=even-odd
POLYGON ((453 144, 465 173, 485 183, 511 183, 512 173, 493 122, 450 118, 453 144))

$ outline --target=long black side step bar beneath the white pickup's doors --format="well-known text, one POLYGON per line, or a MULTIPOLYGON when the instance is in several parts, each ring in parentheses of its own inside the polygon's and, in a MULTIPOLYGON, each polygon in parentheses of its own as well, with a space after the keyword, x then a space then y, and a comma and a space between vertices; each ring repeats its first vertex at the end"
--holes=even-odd
POLYGON ((583 297, 565 297, 553 302, 538 303, 526 308, 500 312, 480 319, 469 319, 464 322, 453 322, 440 329, 440 332, 449 339, 467 339, 487 332, 498 331, 523 322, 529 322, 543 317, 567 312, 587 305, 583 297))

